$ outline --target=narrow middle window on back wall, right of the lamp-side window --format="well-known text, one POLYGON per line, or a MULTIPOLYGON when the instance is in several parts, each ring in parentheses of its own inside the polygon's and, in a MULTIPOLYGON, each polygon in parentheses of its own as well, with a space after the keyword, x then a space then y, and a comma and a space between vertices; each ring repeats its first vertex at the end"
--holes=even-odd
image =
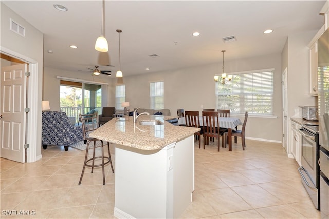
POLYGON ((165 108, 165 82, 150 83, 150 108, 164 109, 165 108))

